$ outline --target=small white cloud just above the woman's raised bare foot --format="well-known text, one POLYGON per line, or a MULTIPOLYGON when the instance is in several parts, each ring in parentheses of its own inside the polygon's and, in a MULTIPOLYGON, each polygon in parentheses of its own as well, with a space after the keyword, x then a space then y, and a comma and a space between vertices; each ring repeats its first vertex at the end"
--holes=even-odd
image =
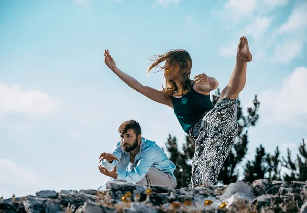
POLYGON ((239 34, 244 36, 251 35, 255 39, 261 39, 270 27, 272 20, 273 17, 257 17, 252 24, 246 26, 239 34))

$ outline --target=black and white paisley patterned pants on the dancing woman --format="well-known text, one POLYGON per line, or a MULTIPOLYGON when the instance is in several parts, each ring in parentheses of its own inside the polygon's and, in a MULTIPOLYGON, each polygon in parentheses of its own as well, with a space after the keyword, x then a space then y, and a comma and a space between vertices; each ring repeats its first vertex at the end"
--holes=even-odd
POLYGON ((195 140, 190 188, 214 185, 238 134, 237 99, 224 98, 190 129, 195 140))

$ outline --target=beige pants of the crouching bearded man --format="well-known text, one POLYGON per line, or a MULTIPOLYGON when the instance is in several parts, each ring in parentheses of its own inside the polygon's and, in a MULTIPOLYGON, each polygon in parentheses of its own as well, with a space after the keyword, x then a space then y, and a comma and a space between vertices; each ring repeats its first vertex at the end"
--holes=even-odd
POLYGON ((157 168, 151 167, 145 177, 136 184, 158 185, 174 189, 176 187, 176 180, 169 173, 164 173, 157 168))

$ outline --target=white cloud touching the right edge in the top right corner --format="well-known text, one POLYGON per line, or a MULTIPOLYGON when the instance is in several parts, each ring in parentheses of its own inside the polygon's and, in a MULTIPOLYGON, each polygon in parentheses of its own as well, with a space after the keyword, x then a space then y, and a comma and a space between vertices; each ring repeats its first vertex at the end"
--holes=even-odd
POLYGON ((288 17, 287 21, 278 29, 279 34, 298 33, 307 29, 307 3, 297 5, 288 17))

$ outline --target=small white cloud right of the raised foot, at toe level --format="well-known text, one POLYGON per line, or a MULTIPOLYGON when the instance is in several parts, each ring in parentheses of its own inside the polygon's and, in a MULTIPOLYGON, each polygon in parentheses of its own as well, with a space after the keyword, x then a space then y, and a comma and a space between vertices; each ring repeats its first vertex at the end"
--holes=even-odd
POLYGON ((300 41, 293 39, 284 40, 283 44, 276 45, 272 62, 290 62, 293 58, 300 54, 302 46, 303 44, 300 41))

